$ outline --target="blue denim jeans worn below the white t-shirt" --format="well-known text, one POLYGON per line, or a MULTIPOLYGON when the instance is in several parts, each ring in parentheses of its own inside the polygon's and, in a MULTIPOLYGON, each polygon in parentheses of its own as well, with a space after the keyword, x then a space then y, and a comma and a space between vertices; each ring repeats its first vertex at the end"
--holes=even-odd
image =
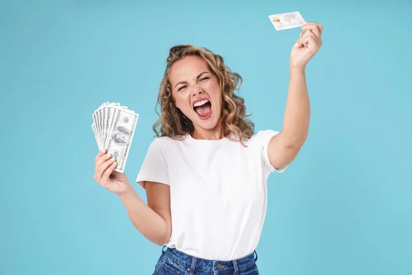
POLYGON ((211 261, 168 248, 162 249, 152 275, 259 275, 256 261, 256 251, 233 261, 211 261))

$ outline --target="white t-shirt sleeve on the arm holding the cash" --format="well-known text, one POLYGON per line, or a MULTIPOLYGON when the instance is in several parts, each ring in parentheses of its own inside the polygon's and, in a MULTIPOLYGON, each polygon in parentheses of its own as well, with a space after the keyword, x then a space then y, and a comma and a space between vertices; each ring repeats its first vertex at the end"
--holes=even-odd
POLYGON ((170 185, 166 155, 161 146, 161 137, 156 138, 150 144, 135 182, 145 188, 144 181, 155 181, 170 185))

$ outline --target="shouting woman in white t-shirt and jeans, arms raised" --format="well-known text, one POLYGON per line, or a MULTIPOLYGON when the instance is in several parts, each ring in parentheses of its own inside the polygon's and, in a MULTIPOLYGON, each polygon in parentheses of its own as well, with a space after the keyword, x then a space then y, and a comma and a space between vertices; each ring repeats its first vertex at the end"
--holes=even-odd
POLYGON ((321 47, 322 29, 306 23, 290 53, 282 131, 253 133, 244 100, 233 94, 242 78, 209 50, 178 45, 161 81, 157 138, 136 179, 147 205, 126 175, 113 171, 115 157, 98 153, 96 181, 119 195, 141 234, 167 247, 155 274, 259 274, 266 179, 286 169, 308 135, 305 67, 321 47))

